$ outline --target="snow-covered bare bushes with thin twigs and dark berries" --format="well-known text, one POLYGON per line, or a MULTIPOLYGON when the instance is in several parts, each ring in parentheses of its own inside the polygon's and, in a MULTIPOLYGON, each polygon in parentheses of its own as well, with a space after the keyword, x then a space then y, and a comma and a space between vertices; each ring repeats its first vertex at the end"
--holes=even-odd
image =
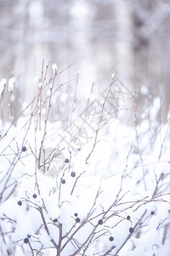
MULTIPOLYGON (((105 112, 115 74, 100 111, 93 108, 85 120, 74 119, 78 75, 58 84, 65 70, 53 67, 54 77, 47 81, 49 63, 42 65, 37 96, 11 124, 1 124, 1 254, 167 255, 169 119, 156 121, 158 99, 137 125, 133 94, 133 127, 122 125, 110 115, 120 108, 105 112), (64 130, 49 116, 71 81, 76 89, 64 130), (89 116, 95 124, 91 130, 89 116)), ((86 109, 94 102, 89 97, 86 109)))

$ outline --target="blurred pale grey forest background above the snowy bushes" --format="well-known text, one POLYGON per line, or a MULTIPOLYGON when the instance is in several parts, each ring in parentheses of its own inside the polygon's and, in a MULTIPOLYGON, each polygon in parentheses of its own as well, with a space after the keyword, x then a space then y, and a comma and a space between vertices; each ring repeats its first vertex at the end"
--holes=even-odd
POLYGON ((167 113, 169 0, 0 0, 0 20, 0 80, 16 77, 16 113, 38 90, 42 59, 59 70, 75 63, 65 76, 79 71, 80 97, 92 79, 109 83, 117 70, 141 94, 140 108, 146 94, 160 96, 167 113))

